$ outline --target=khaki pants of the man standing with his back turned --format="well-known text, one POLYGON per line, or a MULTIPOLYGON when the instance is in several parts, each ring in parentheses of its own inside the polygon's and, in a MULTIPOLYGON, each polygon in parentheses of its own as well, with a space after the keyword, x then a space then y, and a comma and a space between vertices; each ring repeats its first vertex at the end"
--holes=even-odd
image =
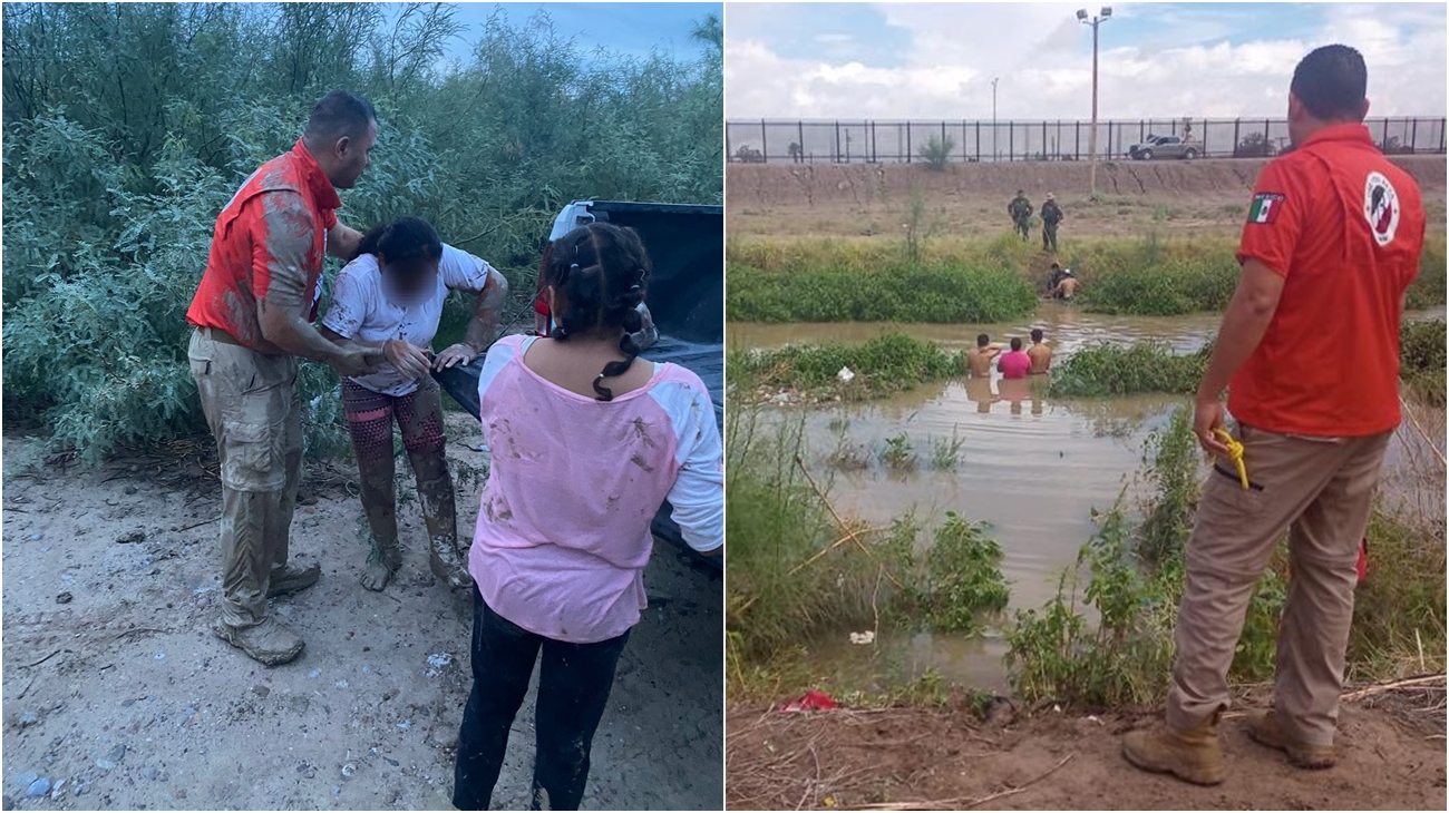
POLYGON ((1242 427, 1252 488, 1219 464, 1187 547, 1166 719, 1188 729, 1227 709, 1227 670, 1253 586, 1288 532, 1288 603, 1278 629, 1274 707, 1287 731, 1333 745, 1353 621, 1359 540, 1392 433, 1304 438, 1242 427))

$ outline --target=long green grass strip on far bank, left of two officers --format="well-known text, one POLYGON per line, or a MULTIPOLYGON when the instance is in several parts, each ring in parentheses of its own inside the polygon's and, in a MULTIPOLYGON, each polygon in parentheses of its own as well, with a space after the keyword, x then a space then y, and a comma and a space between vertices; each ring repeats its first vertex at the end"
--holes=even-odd
POLYGON ((1000 323, 1029 314, 1036 294, 1020 273, 956 263, 894 262, 769 272, 729 265, 735 321, 1000 323))

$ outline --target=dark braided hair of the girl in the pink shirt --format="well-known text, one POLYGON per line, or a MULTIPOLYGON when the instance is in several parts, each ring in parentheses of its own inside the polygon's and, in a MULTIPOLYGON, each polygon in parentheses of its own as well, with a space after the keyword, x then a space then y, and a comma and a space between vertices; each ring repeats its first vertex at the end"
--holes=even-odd
POLYGON ((600 401, 614 398, 603 379, 625 375, 639 356, 632 334, 643 327, 636 308, 643 302, 649 271, 649 255, 639 234, 609 223, 574 229, 543 250, 545 284, 562 299, 562 312, 554 314, 558 321, 554 339, 568 341, 590 333, 625 333, 619 349, 626 359, 604 365, 594 379, 600 401))

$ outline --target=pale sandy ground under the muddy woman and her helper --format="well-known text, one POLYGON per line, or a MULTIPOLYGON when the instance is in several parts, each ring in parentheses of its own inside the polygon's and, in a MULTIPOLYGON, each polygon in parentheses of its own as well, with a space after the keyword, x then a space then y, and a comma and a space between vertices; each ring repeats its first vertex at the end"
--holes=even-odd
MULTIPOLYGON (((480 441, 449 415, 449 457, 481 466, 480 441)), ((371 593, 348 470, 309 470, 291 550, 322 580, 272 602, 307 650, 267 668, 207 629, 220 486, 204 461, 61 467, 20 437, 3 451, 6 810, 451 809, 471 599, 429 574, 416 501, 398 580, 371 593)), ((478 488, 458 486, 469 535, 478 488)), ((664 542, 645 584, 582 806, 719 809, 723 584, 664 542)), ((527 804, 532 765, 533 690, 494 809, 527 804)))

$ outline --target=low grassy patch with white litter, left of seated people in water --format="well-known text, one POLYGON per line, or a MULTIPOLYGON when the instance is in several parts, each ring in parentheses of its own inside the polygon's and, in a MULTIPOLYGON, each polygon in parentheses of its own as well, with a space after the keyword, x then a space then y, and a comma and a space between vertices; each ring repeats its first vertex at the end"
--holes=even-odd
POLYGON ((864 344, 798 344, 777 350, 730 350, 729 385, 743 401, 764 401, 772 392, 794 391, 806 401, 861 401, 965 373, 961 353, 900 333, 864 344), (843 382, 848 367, 853 378, 843 382))

